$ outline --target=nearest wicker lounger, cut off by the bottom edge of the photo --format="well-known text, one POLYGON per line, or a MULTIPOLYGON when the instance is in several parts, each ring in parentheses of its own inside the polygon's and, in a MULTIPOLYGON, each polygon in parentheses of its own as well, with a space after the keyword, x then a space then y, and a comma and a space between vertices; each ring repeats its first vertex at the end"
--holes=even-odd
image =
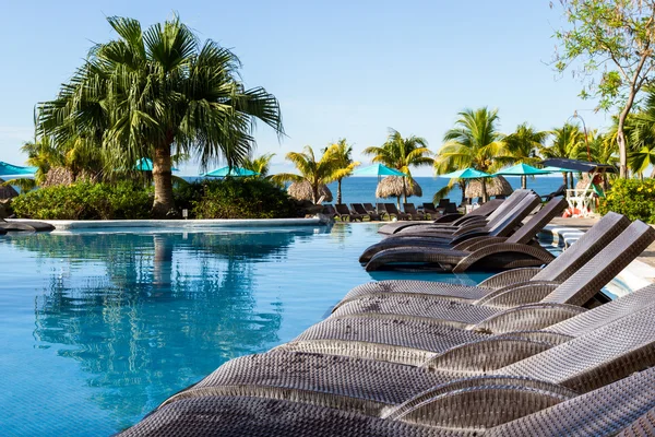
MULTIPOLYGON (((491 397, 486 402, 480 402, 481 397, 473 395, 471 400, 475 403, 453 403, 453 406, 461 405, 460 411, 454 413, 455 417, 460 417, 462 421, 452 423, 454 421, 451 418, 451 425, 454 426, 450 426, 450 429, 445 432, 439 427, 407 423, 407 421, 417 422, 413 416, 416 416, 420 412, 419 409, 424 406, 406 411, 403 418, 381 418, 366 413, 326 408, 320 404, 295 402, 281 397, 272 399, 217 393, 216 395, 186 398, 164 405, 122 435, 126 437, 179 435, 183 430, 186 435, 193 437, 205 435, 270 437, 294 435, 314 437, 454 437, 462 435, 471 437, 475 433, 471 430, 471 415, 463 418, 460 416, 461 413, 474 409, 479 411, 483 408, 481 414, 476 415, 477 417, 483 420, 492 417, 496 422, 500 422, 497 414, 502 412, 499 411, 498 403, 495 401, 514 397, 507 395, 509 387, 512 387, 516 394, 521 394, 523 388, 533 389, 533 391, 539 390, 545 394, 555 394, 556 398, 565 400, 497 426, 490 426, 490 423, 487 422, 477 422, 475 423, 477 435, 481 435, 481 428, 487 428, 484 433, 487 437, 611 436, 626 428, 626 426, 628 428, 619 436, 653 435, 650 434, 653 429, 652 409, 655 406, 655 369, 653 368, 577 397, 571 397, 570 393, 557 386, 529 379, 479 378, 478 385, 475 385, 475 382, 464 381, 462 386, 465 387, 462 390, 468 390, 468 393, 491 394, 491 397), (484 386, 485 383, 487 386, 484 386), (484 387, 487 387, 487 389, 483 389, 484 387), (492 387, 498 387, 497 394, 490 390, 492 387), (485 414, 485 410, 492 403, 496 406, 496 413, 488 416, 485 414), (606 414, 608 412, 611 414, 606 414), (204 426, 209 423, 212 425, 204 426)), ((507 409, 505 411, 511 409, 509 414, 517 416, 540 406, 538 402, 521 402, 517 398, 514 397, 515 402, 512 404, 503 405, 507 409)), ((522 398, 527 399, 527 397, 522 398)), ((443 398, 441 398, 441 401, 443 401, 443 398)), ((434 403, 429 406, 433 406, 434 403)), ((426 405, 426 408, 429 406, 426 405)), ((446 413, 448 410, 451 409, 443 409, 441 413, 446 413)), ((434 422, 434 418, 432 417, 431 421, 434 422)))

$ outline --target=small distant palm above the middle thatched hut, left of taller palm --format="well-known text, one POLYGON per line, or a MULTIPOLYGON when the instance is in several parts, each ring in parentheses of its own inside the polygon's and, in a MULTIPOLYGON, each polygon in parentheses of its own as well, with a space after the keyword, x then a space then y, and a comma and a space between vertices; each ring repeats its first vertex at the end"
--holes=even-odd
MULTIPOLYGON (((410 167, 432 165, 434 160, 430 156, 432 152, 428 149, 428 141, 425 138, 412 135, 403 138, 401 132, 394 129, 389 130, 386 142, 381 147, 372 146, 364 150, 364 154, 373 155, 372 162, 384 164, 388 167, 395 168, 407 175, 412 182, 410 167)), ((407 181, 403 178, 403 198, 407 202, 407 181)), ((401 198, 398 197, 398 204, 401 198)))

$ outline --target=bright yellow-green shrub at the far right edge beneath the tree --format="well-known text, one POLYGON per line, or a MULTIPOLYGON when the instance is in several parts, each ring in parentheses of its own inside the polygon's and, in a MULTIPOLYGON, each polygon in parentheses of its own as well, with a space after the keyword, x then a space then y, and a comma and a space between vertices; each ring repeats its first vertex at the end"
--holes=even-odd
POLYGON ((655 223, 655 179, 617 179, 605 199, 600 199, 598 212, 624 214, 630 220, 655 223))

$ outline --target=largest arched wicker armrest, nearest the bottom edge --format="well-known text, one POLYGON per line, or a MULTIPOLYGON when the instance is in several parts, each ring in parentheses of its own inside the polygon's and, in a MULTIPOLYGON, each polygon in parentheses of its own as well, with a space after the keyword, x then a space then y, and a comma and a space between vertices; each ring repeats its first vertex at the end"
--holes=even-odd
POLYGON ((463 379, 432 391, 437 394, 420 393, 383 414, 402 422, 473 432, 514 421, 575 397, 571 390, 551 382, 509 377, 463 379))

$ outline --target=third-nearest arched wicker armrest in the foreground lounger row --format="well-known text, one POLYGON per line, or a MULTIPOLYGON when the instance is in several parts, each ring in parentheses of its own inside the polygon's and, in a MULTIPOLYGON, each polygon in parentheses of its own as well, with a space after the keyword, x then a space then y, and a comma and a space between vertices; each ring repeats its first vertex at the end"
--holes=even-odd
POLYGON ((577 316, 586 309, 567 304, 527 304, 496 314, 472 329, 479 332, 504 333, 536 330, 577 316))

